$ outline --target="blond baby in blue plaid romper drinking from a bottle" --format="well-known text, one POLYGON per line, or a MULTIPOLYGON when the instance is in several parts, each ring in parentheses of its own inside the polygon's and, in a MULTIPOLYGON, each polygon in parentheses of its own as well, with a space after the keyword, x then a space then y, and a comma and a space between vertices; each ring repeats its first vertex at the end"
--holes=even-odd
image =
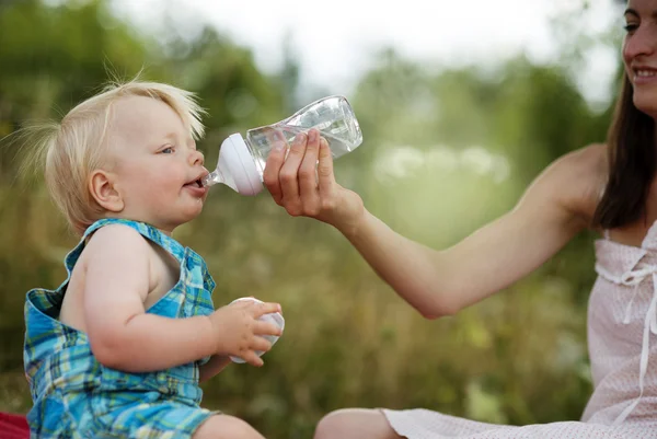
POLYGON ((278 303, 214 310, 204 259, 173 238, 196 218, 208 171, 192 93, 114 84, 38 130, 46 184, 81 236, 68 278, 25 304, 33 437, 262 438, 199 406, 205 381, 239 357, 262 366, 278 303))

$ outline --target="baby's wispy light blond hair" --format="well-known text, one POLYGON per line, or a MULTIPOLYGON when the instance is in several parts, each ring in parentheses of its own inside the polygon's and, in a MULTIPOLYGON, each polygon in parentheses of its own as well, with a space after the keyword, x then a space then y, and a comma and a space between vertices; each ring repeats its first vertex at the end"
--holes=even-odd
POLYGON ((60 123, 31 126, 20 136, 31 140, 23 171, 44 166, 50 196, 78 234, 103 218, 105 212, 89 190, 89 177, 106 158, 113 104, 127 96, 152 97, 165 103, 178 114, 195 140, 203 137, 200 116, 205 112, 193 93, 164 83, 138 80, 113 82, 77 105, 60 123))

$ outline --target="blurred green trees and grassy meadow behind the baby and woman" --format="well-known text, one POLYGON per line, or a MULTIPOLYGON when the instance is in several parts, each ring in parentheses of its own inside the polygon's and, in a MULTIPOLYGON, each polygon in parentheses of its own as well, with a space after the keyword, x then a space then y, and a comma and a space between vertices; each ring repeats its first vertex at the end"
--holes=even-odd
MULTIPOLYGON (((161 26, 148 30, 138 24, 149 19, 143 11, 128 20, 106 1, 2 0, 0 138, 61 118, 112 74, 143 70, 145 79, 200 96, 209 116, 199 147, 212 170, 228 135, 346 94, 365 140, 335 163, 337 180, 394 230, 442 249, 512 208, 555 158, 604 140, 623 3, 613 26, 596 32, 586 25, 590 8, 575 3, 551 19, 549 59, 515 51, 454 67, 381 45, 341 89, 302 80, 293 44, 281 43, 275 71, 262 68, 221 26, 180 14, 171 2, 162 2, 161 26), (168 20, 176 24, 169 32, 168 20), (176 31, 181 22, 192 36, 176 31), (580 74, 610 50, 611 80, 580 74), (598 84, 591 97, 587 85, 597 81, 609 85, 598 84)), ((466 16, 457 19, 466 25, 466 16)), ((318 32, 331 32, 315 20, 318 32)), ((514 25, 508 11, 491 20, 514 25)), ((77 240, 43 181, 20 177, 16 152, 0 147, 0 411, 25 413, 25 292, 64 280, 61 261, 77 240)), ((242 296, 283 304, 286 332, 265 366, 231 366, 204 385, 207 407, 240 416, 268 438, 311 438, 323 414, 346 406, 426 407, 520 425, 578 419, 589 397, 592 233, 527 279, 437 321, 399 299, 339 233, 288 217, 266 193, 241 197, 215 186, 204 213, 175 238, 206 258, 216 307, 242 296)))

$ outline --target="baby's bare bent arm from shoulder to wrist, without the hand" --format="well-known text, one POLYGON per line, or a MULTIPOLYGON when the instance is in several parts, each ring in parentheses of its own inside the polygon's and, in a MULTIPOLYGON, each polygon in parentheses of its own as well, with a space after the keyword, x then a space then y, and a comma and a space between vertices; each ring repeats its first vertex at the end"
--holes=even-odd
POLYGON ((147 314, 147 241, 113 224, 94 233, 84 249, 84 321, 96 359, 128 372, 162 370, 216 354, 207 316, 168 319, 147 314))

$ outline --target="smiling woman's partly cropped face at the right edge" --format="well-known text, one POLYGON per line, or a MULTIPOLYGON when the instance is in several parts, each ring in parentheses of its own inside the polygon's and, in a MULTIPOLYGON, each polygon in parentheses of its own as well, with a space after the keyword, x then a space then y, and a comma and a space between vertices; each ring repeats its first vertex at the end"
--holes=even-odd
POLYGON ((657 118, 657 0, 627 1, 625 28, 623 62, 634 105, 657 118))

